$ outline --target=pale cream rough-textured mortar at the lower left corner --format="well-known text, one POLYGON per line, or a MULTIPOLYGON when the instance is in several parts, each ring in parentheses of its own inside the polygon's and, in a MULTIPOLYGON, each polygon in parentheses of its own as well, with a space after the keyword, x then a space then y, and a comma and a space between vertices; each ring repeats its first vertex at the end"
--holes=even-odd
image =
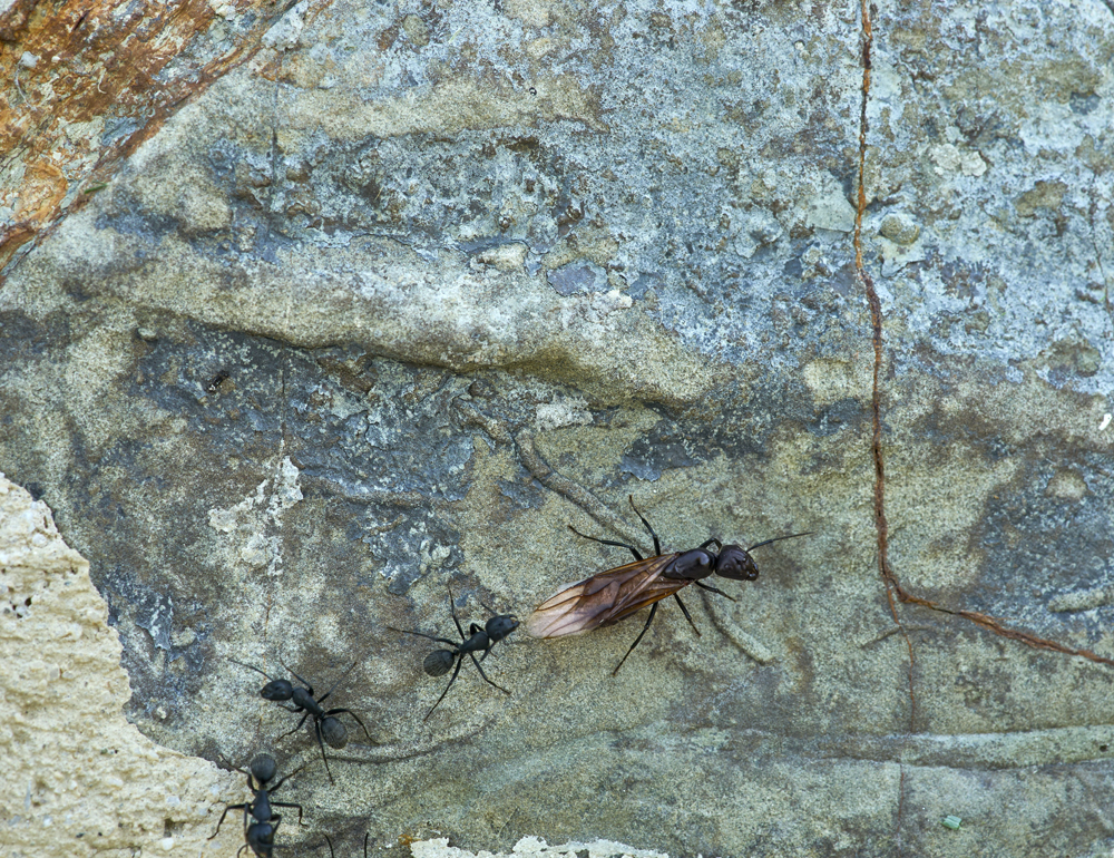
MULTIPOLYGON (((2 474, 0 587, 3 854, 204 847, 221 801, 242 800, 241 779, 125 720, 128 677, 89 564, 62 542, 46 504, 2 474)), ((233 847, 236 829, 226 826, 211 848, 233 847)))

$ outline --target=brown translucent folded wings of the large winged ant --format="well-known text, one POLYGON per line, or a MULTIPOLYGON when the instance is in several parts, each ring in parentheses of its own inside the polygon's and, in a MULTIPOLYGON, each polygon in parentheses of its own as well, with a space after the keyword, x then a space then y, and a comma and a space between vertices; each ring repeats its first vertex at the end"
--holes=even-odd
POLYGON ((569 584, 526 620, 531 637, 563 637, 617 623, 635 611, 671 596, 688 581, 663 578, 676 554, 661 554, 569 584))

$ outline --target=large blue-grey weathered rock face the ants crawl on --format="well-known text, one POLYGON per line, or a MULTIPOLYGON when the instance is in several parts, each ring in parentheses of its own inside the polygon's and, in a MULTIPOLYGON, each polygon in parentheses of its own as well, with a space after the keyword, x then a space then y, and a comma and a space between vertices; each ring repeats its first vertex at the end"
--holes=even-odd
POLYGON ((0 467, 140 730, 309 764, 306 848, 1108 852, 1114 14, 871 25, 864 96, 857 7, 299 4, 12 265, 0 467), (566 525, 645 548, 627 495, 814 533, 687 589, 700 638, 519 633, 423 722, 389 626, 626 562, 566 525), (378 744, 330 784, 232 659, 355 662, 378 744))

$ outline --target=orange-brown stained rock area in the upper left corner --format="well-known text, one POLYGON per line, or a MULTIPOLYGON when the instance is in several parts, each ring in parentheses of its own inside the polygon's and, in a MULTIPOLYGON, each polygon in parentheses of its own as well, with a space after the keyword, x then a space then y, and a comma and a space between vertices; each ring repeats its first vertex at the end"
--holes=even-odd
POLYGON ((187 98, 248 59, 286 8, 228 0, 218 18, 215 6, 17 0, 0 16, 0 266, 80 206, 87 196, 75 192, 109 177, 187 98), (209 39, 214 26, 228 32, 209 39))

